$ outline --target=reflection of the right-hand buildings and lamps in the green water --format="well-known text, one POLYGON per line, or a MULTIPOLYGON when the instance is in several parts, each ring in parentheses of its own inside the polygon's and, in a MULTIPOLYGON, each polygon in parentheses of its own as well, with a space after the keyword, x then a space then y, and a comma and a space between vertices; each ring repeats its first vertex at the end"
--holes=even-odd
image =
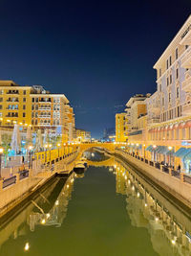
POLYGON ((121 164, 116 164, 114 174, 117 175, 117 193, 124 195, 125 190, 127 195, 126 208, 132 225, 148 229, 159 255, 191 255, 190 218, 138 175, 133 175, 132 171, 127 175, 121 164))

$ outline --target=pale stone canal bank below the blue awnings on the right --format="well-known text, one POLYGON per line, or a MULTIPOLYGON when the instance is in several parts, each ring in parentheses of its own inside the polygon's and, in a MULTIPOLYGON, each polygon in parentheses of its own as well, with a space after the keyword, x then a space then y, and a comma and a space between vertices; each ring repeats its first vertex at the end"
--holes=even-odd
POLYGON ((142 159, 131 156, 126 151, 116 150, 115 155, 125 161, 129 167, 133 168, 139 174, 144 175, 145 179, 150 179, 160 189, 169 193, 168 198, 177 201, 180 208, 186 208, 191 215, 191 184, 184 182, 183 174, 172 175, 172 173, 162 172, 154 166, 143 162, 142 159))

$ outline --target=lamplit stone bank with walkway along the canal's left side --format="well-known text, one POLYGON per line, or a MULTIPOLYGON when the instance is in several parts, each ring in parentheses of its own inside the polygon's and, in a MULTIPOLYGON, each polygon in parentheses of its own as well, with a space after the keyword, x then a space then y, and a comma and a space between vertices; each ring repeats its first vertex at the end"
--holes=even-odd
POLYGON ((70 175, 74 169, 74 163, 78 152, 71 153, 67 157, 55 162, 53 165, 42 165, 41 160, 35 160, 28 175, 12 176, 14 182, 4 187, 4 180, 0 182, 0 222, 5 220, 4 216, 9 216, 15 208, 25 204, 29 198, 37 194, 40 189, 52 182, 55 175, 62 173, 70 175), (2 221, 1 221, 2 219, 2 221))

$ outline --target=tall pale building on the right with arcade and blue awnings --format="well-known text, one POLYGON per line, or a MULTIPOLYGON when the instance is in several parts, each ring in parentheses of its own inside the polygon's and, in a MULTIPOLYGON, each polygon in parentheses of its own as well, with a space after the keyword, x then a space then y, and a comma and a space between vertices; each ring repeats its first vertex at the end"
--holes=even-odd
MULTIPOLYGON (((155 161, 167 162, 191 172, 191 16, 154 65, 157 91, 143 100, 146 105, 144 126, 138 127, 138 115, 131 109, 129 141, 138 145, 138 153, 155 161), (133 114, 132 114, 133 113, 133 114)), ((135 146, 130 148, 135 148, 135 146)))

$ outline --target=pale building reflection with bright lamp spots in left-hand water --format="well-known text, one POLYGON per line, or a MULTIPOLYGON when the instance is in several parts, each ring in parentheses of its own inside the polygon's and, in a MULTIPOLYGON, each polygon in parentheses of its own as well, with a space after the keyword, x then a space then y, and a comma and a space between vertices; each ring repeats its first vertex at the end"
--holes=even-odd
POLYGON ((46 211, 36 205, 37 211, 32 211, 29 219, 30 230, 34 231, 35 225, 55 225, 56 227, 61 226, 62 222, 66 218, 68 210, 68 202, 71 198, 73 186, 74 186, 74 174, 72 174, 64 184, 59 196, 53 203, 53 207, 46 211))

